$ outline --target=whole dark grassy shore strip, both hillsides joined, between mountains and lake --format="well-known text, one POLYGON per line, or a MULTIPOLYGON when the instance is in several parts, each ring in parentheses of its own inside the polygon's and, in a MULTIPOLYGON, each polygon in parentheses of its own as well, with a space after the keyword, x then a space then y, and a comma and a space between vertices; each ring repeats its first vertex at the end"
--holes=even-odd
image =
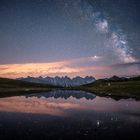
POLYGON ((79 87, 56 87, 52 85, 24 82, 0 78, 0 97, 22 95, 28 92, 43 92, 56 89, 84 90, 100 96, 131 97, 140 99, 140 76, 134 78, 99 79, 91 84, 79 87))

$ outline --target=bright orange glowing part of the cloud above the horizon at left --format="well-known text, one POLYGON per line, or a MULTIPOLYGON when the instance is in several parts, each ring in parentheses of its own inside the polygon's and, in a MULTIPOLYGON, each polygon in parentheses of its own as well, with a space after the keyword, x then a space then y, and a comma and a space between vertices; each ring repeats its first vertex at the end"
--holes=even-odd
POLYGON ((52 63, 26 63, 0 65, 0 77, 17 78, 26 76, 71 75, 83 71, 82 68, 67 66, 69 61, 52 63))

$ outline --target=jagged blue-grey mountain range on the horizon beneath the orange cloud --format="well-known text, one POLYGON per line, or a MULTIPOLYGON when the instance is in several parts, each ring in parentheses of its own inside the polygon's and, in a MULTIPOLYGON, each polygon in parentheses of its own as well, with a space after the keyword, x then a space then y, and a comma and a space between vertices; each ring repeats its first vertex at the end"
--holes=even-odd
POLYGON ((74 87, 89 84, 95 81, 95 78, 92 76, 86 76, 84 78, 77 76, 74 78, 70 78, 68 76, 65 77, 26 77, 26 78, 18 78, 18 80, 26 81, 26 82, 33 82, 33 83, 42 83, 42 84, 49 84, 55 86, 62 86, 62 87, 74 87))

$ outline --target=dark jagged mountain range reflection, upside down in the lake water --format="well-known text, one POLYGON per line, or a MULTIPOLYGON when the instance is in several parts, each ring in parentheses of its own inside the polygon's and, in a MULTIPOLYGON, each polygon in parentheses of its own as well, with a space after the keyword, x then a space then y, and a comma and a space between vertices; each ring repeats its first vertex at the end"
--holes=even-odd
POLYGON ((42 93, 35 93, 35 94, 30 94, 26 95, 26 97, 45 97, 45 98, 63 98, 63 99, 68 99, 70 97, 76 98, 76 99, 81 99, 85 98, 87 100, 93 100, 96 95, 93 93, 88 93, 85 91, 75 91, 75 90, 54 90, 50 92, 42 92, 42 93))

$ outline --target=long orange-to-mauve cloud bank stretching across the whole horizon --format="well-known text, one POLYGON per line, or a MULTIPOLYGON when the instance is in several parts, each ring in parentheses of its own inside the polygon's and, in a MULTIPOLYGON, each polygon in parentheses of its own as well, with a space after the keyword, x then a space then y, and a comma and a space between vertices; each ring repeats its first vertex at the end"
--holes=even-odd
POLYGON ((0 77, 17 78, 27 76, 64 76, 74 77, 93 75, 96 78, 112 75, 138 75, 139 63, 101 65, 100 56, 82 57, 51 63, 27 63, 0 65, 0 77), (100 65, 99 65, 100 64, 100 65))

